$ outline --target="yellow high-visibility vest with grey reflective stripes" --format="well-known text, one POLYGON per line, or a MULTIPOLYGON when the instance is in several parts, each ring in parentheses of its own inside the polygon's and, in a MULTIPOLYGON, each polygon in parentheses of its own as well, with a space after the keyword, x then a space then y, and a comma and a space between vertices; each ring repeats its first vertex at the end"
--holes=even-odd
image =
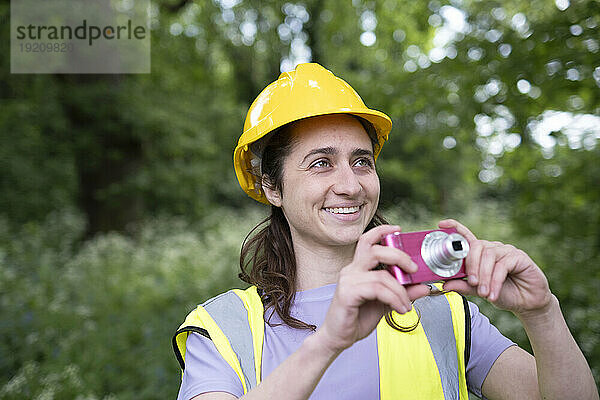
MULTIPOLYGON (((400 332, 385 318, 377 325, 380 398, 468 400, 465 366, 470 349, 469 306, 448 292, 418 299, 394 320, 416 329, 400 332)), ((188 314, 173 337, 173 349, 185 368, 185 345, 191 332, 209 338, 236 372, 244 393, 261 382, 264 306, 255 286, 216 296, 188 314)))

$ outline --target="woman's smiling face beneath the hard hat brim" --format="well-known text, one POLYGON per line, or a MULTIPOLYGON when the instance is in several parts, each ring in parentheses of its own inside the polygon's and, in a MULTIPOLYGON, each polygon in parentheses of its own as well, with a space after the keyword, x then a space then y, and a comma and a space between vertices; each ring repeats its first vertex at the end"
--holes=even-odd
POLYGON ((296 122, 283 163, 281 191, 265 188, 281 207, 294 245, 354 245, 379 202, 373 144, 361 123, 343 114, 296 122))

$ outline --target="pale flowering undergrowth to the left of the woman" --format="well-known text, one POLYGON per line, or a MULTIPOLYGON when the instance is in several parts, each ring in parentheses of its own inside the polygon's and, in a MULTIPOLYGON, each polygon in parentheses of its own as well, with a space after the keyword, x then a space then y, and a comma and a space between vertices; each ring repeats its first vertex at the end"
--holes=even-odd
POLYGON ((83 244, 77 213, 16 232, 3 221, 0 398, 175 396, 177 324, 195 304, 243 287, 240 243, 258 220, 228 210, 194 227, 161 218, 134 238, 83 244))

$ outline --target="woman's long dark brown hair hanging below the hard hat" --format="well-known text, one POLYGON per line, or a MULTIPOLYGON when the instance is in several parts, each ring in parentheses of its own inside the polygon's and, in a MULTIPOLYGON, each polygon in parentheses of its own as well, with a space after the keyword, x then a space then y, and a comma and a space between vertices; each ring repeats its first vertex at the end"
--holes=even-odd
MULTIPOLYGON (((363 126, 371 126, 364 119, 356 118, 363 126)), ((262 152, 261 171, 263 176, 268 177, 268 181, 261 179, 261 184, 269 185, 280 192, 283 189, 283 162, 294 145, 292 124, 293 122, 284 125, 270 135, 262 152)), ((372 132, 367 128, 365 130, 367 133, 372 132)), ((373 138, 371 134, 369 136, 376 143, 377 138, 373 138)), ((376 211, 365 232, 386 223, 376 211)), ((271 206, 271 215, 248 233, 242 244, 240 269, 240 279, 258 288, 265 309, 273 307, 283 323, 292 328, 316 329, 314 325, 300 321, 290 314, 296 294, 296 257, 290 227, 281 208, 271 206)), ((270 313, 267 317, 265 313, 265 321, 269 325, 272 325, 272 315, 273 313, 270 313)), ((385 319, 392 328, 403 332, 415 329, 419 323, 417 321, 410 327, 402 327, 394 321, 391 312, 386 313, 385 319)))

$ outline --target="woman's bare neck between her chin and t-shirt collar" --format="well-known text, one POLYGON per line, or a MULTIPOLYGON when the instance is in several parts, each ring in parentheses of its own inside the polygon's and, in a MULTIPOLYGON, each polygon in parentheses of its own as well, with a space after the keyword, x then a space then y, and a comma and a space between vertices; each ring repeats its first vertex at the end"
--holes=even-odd
POLYGON ((352 262, 355 247, 355 243, 323 247, 294 241, 296 291, 336 283, 341 269, 352 262))

